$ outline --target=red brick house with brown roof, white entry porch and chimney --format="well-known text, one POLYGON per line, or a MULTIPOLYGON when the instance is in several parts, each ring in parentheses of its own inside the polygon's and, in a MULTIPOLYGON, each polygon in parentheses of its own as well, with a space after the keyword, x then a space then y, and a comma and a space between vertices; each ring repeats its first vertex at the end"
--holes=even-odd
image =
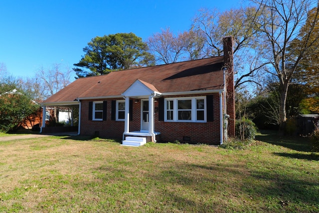
POLYGON ((43 110, 79 107, 78 134, 123 144, 222 144, 235 134, 234 41, 223 41, 223 56, 79 78, 42 102, 43 110))

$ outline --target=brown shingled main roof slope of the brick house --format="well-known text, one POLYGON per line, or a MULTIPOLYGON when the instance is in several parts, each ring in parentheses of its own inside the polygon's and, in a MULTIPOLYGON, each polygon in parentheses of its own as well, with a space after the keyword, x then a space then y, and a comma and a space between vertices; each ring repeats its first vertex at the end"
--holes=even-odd
POLYGON ((43 103, 121 96, 137 79, 160 93, 218 90, 224 84, 223 65, 218 56, 79 78, 43 103))

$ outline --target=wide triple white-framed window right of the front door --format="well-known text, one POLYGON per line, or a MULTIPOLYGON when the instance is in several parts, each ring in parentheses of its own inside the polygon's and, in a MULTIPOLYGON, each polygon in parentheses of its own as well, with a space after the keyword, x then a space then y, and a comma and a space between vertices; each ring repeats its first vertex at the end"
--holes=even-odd
POLYGON ((206 97, 165 98, 164 121, 206 122, 206 97))

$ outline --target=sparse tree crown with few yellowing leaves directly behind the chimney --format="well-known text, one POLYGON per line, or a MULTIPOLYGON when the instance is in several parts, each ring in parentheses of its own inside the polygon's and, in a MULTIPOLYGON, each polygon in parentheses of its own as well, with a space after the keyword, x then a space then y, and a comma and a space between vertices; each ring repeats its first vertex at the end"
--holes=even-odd
POLYGON ((233 36, 234 70, 237 76, 235 88, 245 83, 254 83, 262 87, 263 76, 259 70, 268 62, 260 60, 257 44, 258 31, 253 27, 251 19, 258 15, 255 7, 230 9, 220 12, 217 9, 200 9, 193 18, 192 30, 200 32, 205 39, 202 51, 206 57, 223 54, 222 37, 233 36))

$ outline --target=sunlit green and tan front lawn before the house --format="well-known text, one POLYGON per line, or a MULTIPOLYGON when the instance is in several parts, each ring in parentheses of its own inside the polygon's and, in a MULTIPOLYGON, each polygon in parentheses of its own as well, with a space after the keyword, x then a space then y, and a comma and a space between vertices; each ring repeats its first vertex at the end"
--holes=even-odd
POLYGON ((0 212, 319 212, 307 139, 245 150, 45 137, 0 142, 0 212))

